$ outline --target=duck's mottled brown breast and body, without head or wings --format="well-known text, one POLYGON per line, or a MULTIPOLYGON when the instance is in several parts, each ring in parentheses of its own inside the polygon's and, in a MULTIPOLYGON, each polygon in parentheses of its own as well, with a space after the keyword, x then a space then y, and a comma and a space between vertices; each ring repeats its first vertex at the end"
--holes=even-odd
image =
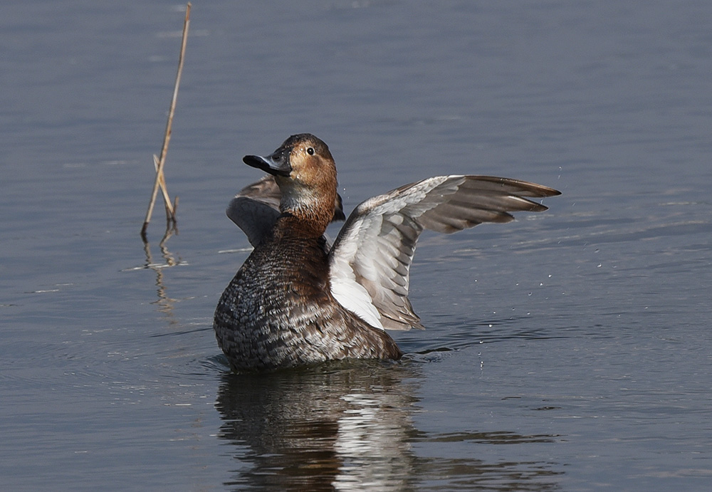
POLYGON ((295 234, 288 220, 278 221, 215 311, 216 337, 234 370, 401 356, 387 333, 335 300, 328 268, 323 236, 295 234))

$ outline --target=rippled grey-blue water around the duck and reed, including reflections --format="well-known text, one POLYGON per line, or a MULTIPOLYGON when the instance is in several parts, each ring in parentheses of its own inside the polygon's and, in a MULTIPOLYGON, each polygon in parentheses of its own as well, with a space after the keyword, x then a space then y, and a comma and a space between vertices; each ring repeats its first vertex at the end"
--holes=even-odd
POLYGON ((9 1, 0 20, 4 490, 703 490, 712 6, 9 1), (396 365, 231 375, 241 164, 295 132, 345 208, 443 173, 560 189, 424 235, 396 365))

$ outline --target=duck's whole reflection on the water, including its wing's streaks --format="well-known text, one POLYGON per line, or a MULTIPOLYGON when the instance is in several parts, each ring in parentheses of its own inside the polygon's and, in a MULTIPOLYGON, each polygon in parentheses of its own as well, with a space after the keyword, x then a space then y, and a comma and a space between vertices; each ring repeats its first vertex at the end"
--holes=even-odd
POLYGON ((556 436, 508 431, 434 435, 415 429, 418 380, 418 365, 373 361, 224 375, 216 403, 224 419, 220 436, 237 447, 239 463, 227 485, 281 491, 558 487, 557 464, 487 463, 448 447, 467 446, 474 455, 477 446, 555 446, 556 436), (417 456, 412 446, 436 455, 417 456), (449 456, 437 456, 443 452, 449 456))

